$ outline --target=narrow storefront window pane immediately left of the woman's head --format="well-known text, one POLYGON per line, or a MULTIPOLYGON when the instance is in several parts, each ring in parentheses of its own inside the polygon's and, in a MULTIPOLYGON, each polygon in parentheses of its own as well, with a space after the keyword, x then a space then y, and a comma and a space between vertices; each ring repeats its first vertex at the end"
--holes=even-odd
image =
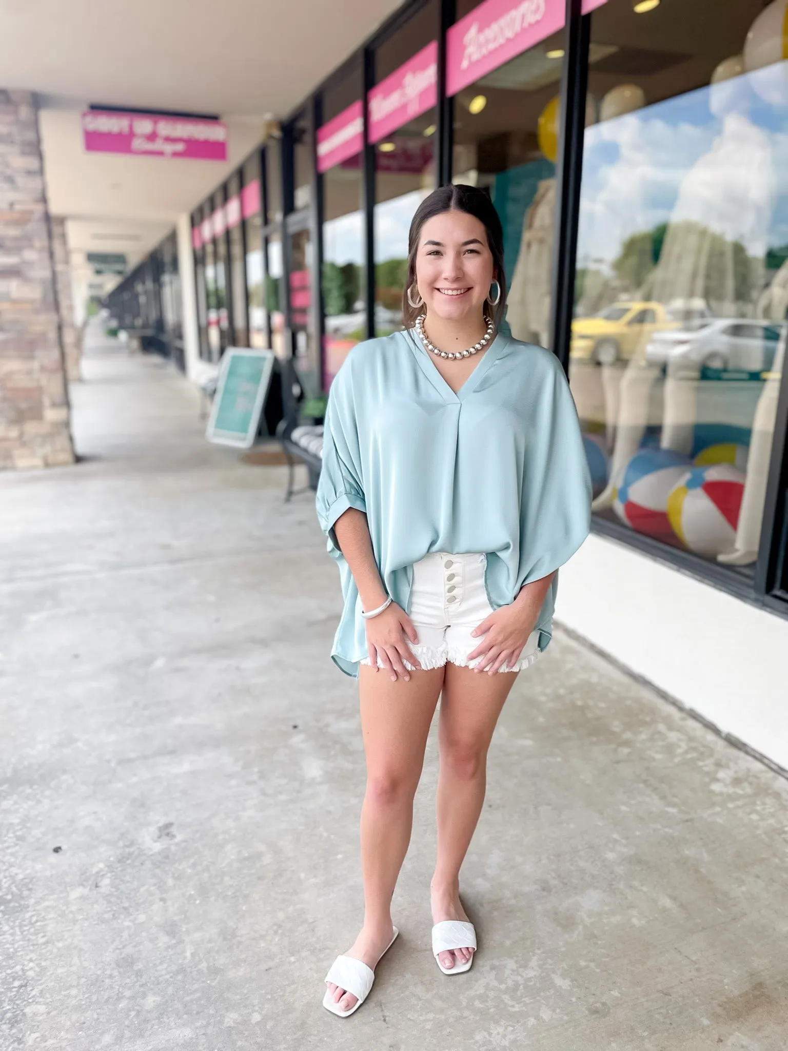
POLYGON ((402 325, 408 230, 436 186, 438 4, 422 7, 375 53, 368 99, 375 145, 375 332, 402 325))

